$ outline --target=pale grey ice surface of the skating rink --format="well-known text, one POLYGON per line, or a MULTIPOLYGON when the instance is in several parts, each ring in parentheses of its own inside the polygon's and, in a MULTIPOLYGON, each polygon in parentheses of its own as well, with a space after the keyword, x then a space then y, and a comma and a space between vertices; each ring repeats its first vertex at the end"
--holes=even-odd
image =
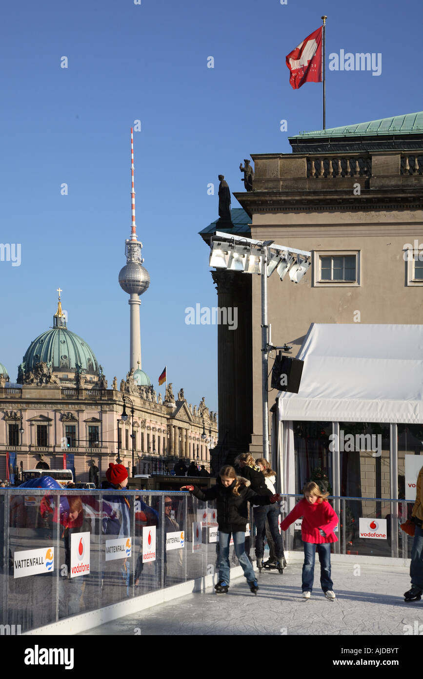
POLYGON ((319 566, 310 600, 301 593, 302 562, 283 572, 262 571, 257 595, 243 577, 228 594, 190 593, 94 627, 83 635, 405 635, 423 634, 423 600, 405 603, 409 568, 332 564, 336 600, 320 589, 319 566), (407 627, 411 625, 411 627, 407 627), (420 632, 416 631, 420 627, 420 632))

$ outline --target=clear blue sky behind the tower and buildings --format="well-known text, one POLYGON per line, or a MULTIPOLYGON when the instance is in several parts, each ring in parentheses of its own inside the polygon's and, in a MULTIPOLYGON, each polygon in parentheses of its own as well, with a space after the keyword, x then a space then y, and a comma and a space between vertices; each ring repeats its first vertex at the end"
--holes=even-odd
POLYGON ((327 127, 422 109, 422 4, 401 6, 5 0, 0 242, 22 248, 19 267, 0 261, 0 362, 12 380, 30 342, 52 325, 59 286, 69 329, 92 347, 109 384, 128 370, 128 296, 117 276, 131 222, 129 128, 140 120, 136 223, 151 276, 140 308, 142 367, 157 388, 167 364, 174 392, 183 387, 197 404, 204 395, 216 410, 217 328, 184 321, 186 307, 217 304, 197 235, 218 217, 217 176, 243 190, 239 163, 249 153, 289 153, 289 135, 321 128, 321 84, 292 90, 285 56, 322 14, 327 64, 340 49, 382 53, 380 76, 327 69, 327 127))

